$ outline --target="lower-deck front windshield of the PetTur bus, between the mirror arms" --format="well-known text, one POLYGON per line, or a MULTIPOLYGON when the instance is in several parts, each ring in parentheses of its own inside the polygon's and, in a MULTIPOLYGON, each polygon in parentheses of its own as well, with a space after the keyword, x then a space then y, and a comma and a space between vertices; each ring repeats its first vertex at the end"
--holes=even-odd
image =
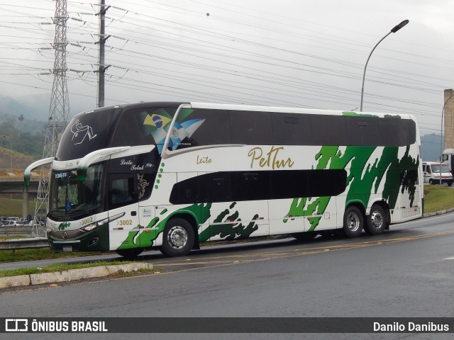
POLYGON ((89 166, 85 181, 77 180, 76 170, 52 171, 50 212, 54 215, 70 215, 78 210, 98 208, 101 205, 102 171, 102 164, 89 166))

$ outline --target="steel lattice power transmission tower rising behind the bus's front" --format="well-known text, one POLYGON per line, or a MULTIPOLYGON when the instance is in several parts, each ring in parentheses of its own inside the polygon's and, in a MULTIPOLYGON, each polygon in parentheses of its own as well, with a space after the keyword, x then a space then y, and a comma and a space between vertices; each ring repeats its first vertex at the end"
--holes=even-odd
MULTIPOLYGON (((55 61, 52 72, 54 74, 54 81, 52 85, 52 96, 50 98, 48 125, 45 132, 43 159, 55 157, 58 142, 60 142, 60 137, 66 128, 70 113, 66 77, 67 20, 67 0, 56 0, 55 17, 53 19, 53 23, 55 24, 55 39, 53 44, 55 61)), ((33 237, 39 237, 45 234, 44 227, 39 223, 38 215, 48 212, 49 179, 50 171, 43 167, 38 186, 38 196, 36 197, 35 217, 32 229, 33 237)))

